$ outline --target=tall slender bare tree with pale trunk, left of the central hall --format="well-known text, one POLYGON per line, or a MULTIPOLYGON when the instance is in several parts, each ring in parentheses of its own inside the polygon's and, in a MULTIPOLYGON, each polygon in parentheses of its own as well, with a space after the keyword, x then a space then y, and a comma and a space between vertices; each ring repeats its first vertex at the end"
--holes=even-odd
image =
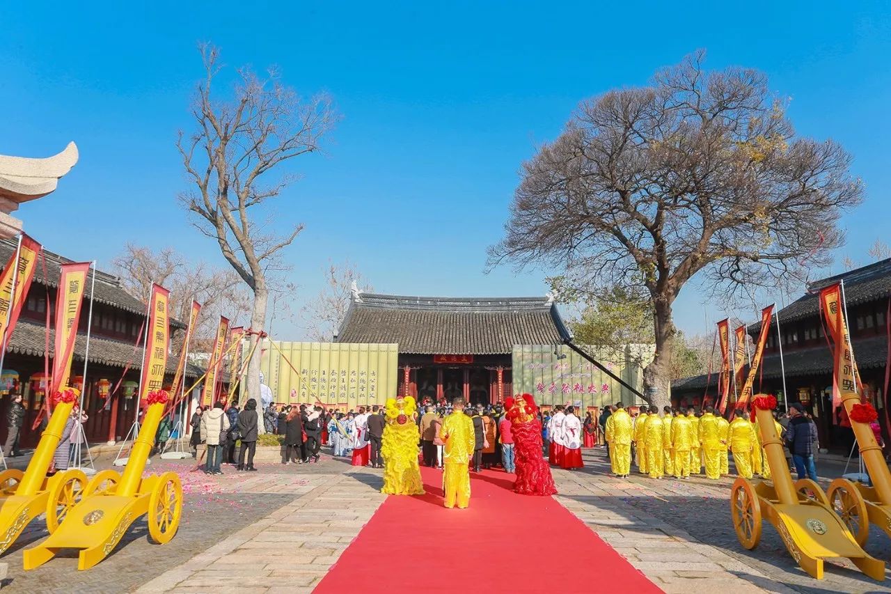
MULTIPOLYGON (((294 225, 283 235, 270 229, 273 220, 263 206, 295 180, 287 161, 320 150, 322 138, 335 120, 326 95, 305 100, 282 84, 279 72, 265 78, 252 70, 237 71, 233 98, 218 100, 213 83, 221 70, 219 52, 200 46, 205 78, 192 103, 196 129, 180 133, 176 146, 192 190, 180 195, 184 207, 197 215, 196 227, 217 241, 226 261, 253 293, 250 327, 266 328, 270 272, 282 269, 282 250, 303 228, 294 225)), ((257 334, 251 336, 259 340, 257 334)), ((260 401, 260 352, 248 367, 248 394, 260 401)), ((257 407, 259 427, 262 410, 257 407)))

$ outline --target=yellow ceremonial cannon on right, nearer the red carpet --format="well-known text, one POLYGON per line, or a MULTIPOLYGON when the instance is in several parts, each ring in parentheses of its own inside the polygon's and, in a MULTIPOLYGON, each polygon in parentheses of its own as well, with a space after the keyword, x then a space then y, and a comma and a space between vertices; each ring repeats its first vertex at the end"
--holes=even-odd
POLYGON ((773 426, 771 410, 776 408, 776 399, 761 394, 752 404, 773 483, 759 481, 753 486, 742 477, 733 483, 731 514, 740 544, 746 549, 758 546, 764 518, 780 532, 792 558, 814 578, 822 579, 823 561, 846 557, 873 580, 884 580, 885 563, 861 549, 847 525, 832 512, 820 485, 810 479, 792 482, 773 426))

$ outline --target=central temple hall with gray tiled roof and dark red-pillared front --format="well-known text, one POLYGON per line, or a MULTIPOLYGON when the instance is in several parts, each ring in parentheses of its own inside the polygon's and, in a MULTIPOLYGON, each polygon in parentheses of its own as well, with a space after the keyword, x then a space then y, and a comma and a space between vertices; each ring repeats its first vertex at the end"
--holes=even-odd
POLYGON ((549 297, 447 298, 353 293, 336 342, 396 343, 399 392, 497 402, 513 393, 517 345, 570 340, 549 297))

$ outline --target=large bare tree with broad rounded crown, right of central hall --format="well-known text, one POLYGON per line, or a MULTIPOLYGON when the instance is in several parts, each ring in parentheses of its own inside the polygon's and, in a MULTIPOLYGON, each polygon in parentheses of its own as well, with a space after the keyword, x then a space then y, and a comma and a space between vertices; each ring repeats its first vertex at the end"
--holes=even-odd
POLYGON ((644 384, 658 406, 682 287, 699 275, 728 296, 825 266, 844 242, 838 218, 863 193, 841 146, 796 136, 764 74, 706 72, 703 59, 581 103, 523 164, 490 249, 490 266, 546 263, 581 285, 644 287, 656 342, 644 384))

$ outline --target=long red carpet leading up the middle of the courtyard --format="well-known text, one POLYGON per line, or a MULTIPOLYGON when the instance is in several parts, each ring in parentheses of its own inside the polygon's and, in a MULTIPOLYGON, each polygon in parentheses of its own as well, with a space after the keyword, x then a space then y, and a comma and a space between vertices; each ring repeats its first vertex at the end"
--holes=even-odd
POLYGON ((511 474, 470 473, 467 509, 443 507, 441 472, 421 475, 427 494, 389 496, 315 592, 661 591, 555 500, 511 491, 511 474))

